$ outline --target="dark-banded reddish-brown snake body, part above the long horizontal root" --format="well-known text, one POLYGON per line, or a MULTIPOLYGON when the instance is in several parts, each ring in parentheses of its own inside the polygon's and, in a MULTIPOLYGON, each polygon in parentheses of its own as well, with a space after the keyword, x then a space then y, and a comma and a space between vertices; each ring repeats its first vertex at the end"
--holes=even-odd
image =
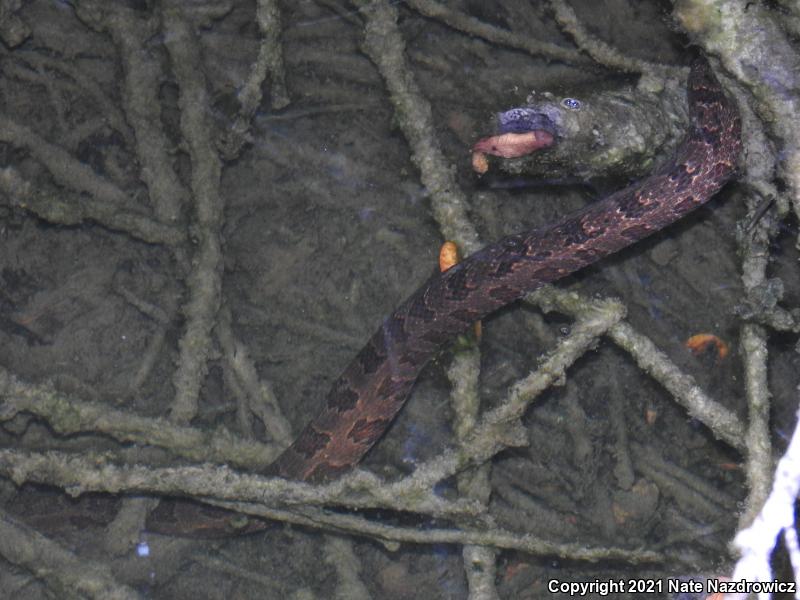
POLYGON ((322 482, 351 469, 449 340, 541 285, 663 229, 716 194, 736 169, 739 114, 703 59, 692 64, 687 96, 691 127, 672 160, 602 201, 503 238, 429 279, 383 321, 334 382, 319 415, 268 472, 322 482))

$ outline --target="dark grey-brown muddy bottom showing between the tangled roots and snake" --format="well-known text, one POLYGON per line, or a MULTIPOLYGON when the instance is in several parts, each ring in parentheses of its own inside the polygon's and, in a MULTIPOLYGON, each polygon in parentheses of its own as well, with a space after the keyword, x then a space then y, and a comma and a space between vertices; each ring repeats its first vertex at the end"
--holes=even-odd
MULTIPOLYGON (((150 13, 149 2, 130 4, 141 15, 150 13)), ((544 9, 531 7, 537 3, 452 4, 499 27, 570 44, 544 9)), ((686 62, 680 50, 684 40, 666 26, 660 3, 615 0, 598 12, 592 2, 574 4, 596 35, 621 50, 667 64, 686 62)), ((382 80, 359 50, 359 16, 350 5, 339 11, 327 5, 282 6, 291 104, 272 109, 265 85, 250 143, 224 164, 221 184, 222 303, 295 431, 315 413, 330 382, 382 317, 433 272, 442 241, 407 143, 394 126, 382 80)), ((194 23, 208 88, 205 109, 220 131, 236 110, 236 93, 258 48, 254 6, 238 0, 229 6, 208 17, 198 4, 194 23)), ((470 195, 471 216, 483 240, 547 223, 602 193, 586 186, 488 186, 471 171, 469 147, 486 133, 492 112, 519 103, 532 89, 559 94, 608 85, 609 78, 622 85, 633 80, 548 64, 465 36, 406 7, 400 13, 414 75, 433 106, 436 133, 470 195)), ((0 54, 0 111, 111 182, 124 193, 127 210, 152 217, 141 157, 125 123, 123 66, 112 38, 60 2, 31 0, 17 15, 31 34, 0 54)), ((163 45, 166 35, 156 27, 141 52, 163 69, 157 112, 171 144, 171 167, 188 188, 192 165, 180 137, 181 109, 163 45)), ((91 196, 54 176, 25 144, 0 143, 0 164, 13 167, 53 202, 77 207, 91 196)), ((554 173, 553 179, 568 176, 554 173)), ((186 231, 192 211, 191 201, 184 202, 170 225, 186 231)), ((685 222, 560 284, 586 295, 621 298, 636 329, 740 415, 740 323, 734 307, 742 290, 734 231, 743 214, 741 198, 729 187, 685 222), (719 359, 713 351, 689 353, 686 340, 702 332, 719 336, 730 354, 719 359)), ((175 393, 173 373, 185 325, 180 307, 195 241, 191 233, 187 237, 186 245, 146 243, 97 219, 47 217, 3 196, 0 366, 22 380, 51 382, 84 400, 166 416, 175 393), (162 321, 146 315, 132 298, 157 307, 162 321), (152 367, 144 368, 143 356, 157 335, 164 342, 152 367)), ((798 277, 790 237, 787 232, 776 249, 775 275, 784 278, 791 302, 798 298, 798 277)), ((565 317, 521 306, 485 322, 480 389, 486 406, 535 369, 537 356, 568 334, 569 326, 565 317)), ((790 341, 776 338, 771 350, 780 449, 794 410, 789 374, 800 365, 790 341)), ((426 370, 366 466, 386 474, 407 472, 448 443, 451 415, 443 366, 449 360, 445 353, 426 370)), ((212 356, 193 424, 263 435, 258 423, 241 431, 231 397, 224 365, 212 356)), ((498 524, 554 541, 688 554, 698 570, 725 559, 736 526, 735 503, 744 494, 741 457, 715 442, 612 344, 604 341, 585 355, 565 386, 536 403, 525 424, 530 447, 495 461, 491 506, 498 524), (633 456, 632 464, 619 459, 621 447, 633 456), (638 462, 642 457, 701 479, 718 490, 719 502, 699 513, 680 492, 653 483, 638 462)), ((43 420, 27 416, 3 424, 0 444, 74 452, 117 448, 101 436, 55 435, 43 420)), ((131 461, 170 460, 135 447, 125 453, 131 461)), ((83 500, 88 509, 64 497, 56 504, 40 503, 53 496, 60 495, 0 480, 0 502, 8 511, 80 556, 107 561, 118 581, 144 597, 330 597, 334 586, 342 585, 323 556, 319 532, 277 525, 215 542, 142 534, 137 541, 147 541, 149 556, 137 556, 130 544, 112 556, 107 548, 114 540, 106 524, 119 499, 83 500), (94 518, 86 519, 87 514, 94 518)), ((378 516, 402 522, 388 512, 378 516)), ((403 545, 389 551, 363 538, 354 542, 362 578, 375 597, 466 595, 456 546, 403 545)), ((542 597, 552 577, 590 581, 678 574, 670 564, 642 570, 514 552, 501 553, 498 565, 504 598, 542 597)), ((40 583, 6 563, 0 565, 0 580, 20 600, 45 593, 40 583)))

